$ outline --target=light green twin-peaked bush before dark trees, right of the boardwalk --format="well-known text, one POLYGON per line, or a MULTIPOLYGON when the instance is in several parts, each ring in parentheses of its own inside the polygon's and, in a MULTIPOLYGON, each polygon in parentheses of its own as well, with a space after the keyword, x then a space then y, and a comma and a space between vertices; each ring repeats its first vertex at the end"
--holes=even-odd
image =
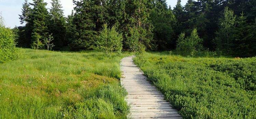
POLYGON ((202 39, 199 38, 197 29, 194 29, 190 36, 185 38, 185 33, 181 33, 177 39, 177 50, 184 55, 194 56, 203 49, 202 39))

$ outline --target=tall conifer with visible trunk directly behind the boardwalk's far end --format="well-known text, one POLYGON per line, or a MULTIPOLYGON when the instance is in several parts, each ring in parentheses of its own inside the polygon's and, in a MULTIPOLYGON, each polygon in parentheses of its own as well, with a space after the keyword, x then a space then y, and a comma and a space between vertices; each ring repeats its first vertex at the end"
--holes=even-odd
MULTIPOLYGON (((147 49, 154 49, 152 45, 152 24, 149 20, 147 9, 148 0, 128 0, 126 3, 125 18, 125 40, 134 37, 131 31, 138 31, 139 44, 143 44, 147 49), (133 30, 131 30, 133 29, 133 30)), ((129 44, 126 45, 129 48, 129 44)))

